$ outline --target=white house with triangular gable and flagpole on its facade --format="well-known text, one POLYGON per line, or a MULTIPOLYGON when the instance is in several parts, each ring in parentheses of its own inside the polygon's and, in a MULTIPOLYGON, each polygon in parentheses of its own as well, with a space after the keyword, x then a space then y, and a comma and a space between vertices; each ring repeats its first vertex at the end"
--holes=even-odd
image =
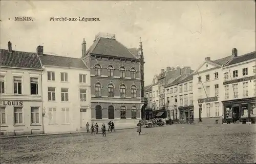
POLYGON ((222 66, 229 62, 236 54, 218 60, 205 61, 193 74, 194 123, 222 124, 224 92, 222 66))

